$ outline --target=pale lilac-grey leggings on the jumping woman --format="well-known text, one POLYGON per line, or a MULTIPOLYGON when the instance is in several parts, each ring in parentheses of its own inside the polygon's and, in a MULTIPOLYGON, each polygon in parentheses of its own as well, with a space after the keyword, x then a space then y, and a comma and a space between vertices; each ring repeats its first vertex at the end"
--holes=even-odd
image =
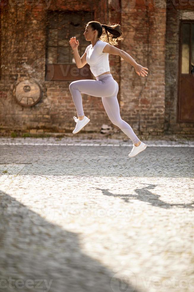
POLYGON ((113 79, 112 74, 98 76, 96 77, 96 80, 73 81, 69 85, 69 90, 71 92, 78 117, 84 115, 81 93, 95 97, 102 97, 102 103, 111 122, 119 127, 133 141, 134 144, 140 142, 131 126, 120 117, 120 108, 117 100, 119 86, 117 81, 113 79))

